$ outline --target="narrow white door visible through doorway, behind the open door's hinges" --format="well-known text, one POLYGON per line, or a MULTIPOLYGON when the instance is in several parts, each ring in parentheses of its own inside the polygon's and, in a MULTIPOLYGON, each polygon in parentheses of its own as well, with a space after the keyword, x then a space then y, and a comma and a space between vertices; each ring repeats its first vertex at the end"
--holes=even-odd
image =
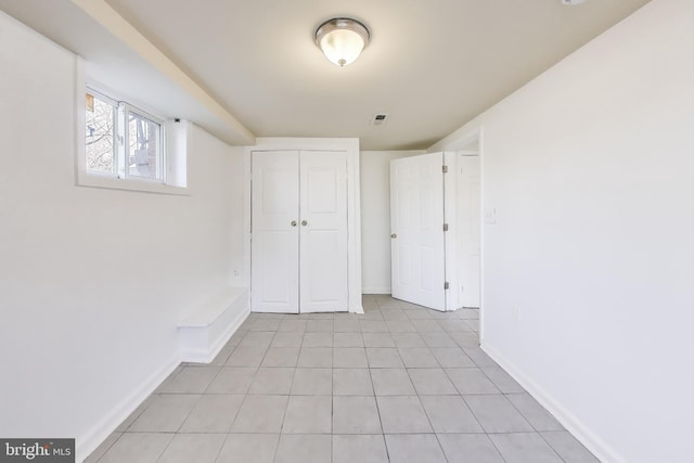
POLYGON ((479 307, 479 156, 460 155, 458 166, 461 283, 459 285, 459 300, 462 307, 479 307))

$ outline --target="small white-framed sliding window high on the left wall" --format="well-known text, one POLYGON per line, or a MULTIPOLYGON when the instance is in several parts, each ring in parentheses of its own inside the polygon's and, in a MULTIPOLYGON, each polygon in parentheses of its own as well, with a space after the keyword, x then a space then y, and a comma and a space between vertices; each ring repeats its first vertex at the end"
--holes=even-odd
POLYGON ((185 127, 87 88, 79 184, 181 194, 185 127))

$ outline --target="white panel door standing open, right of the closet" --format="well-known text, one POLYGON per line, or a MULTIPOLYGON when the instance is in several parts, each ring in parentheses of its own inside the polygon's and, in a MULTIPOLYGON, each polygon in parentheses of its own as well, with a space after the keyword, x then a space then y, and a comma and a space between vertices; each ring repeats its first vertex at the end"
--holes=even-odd
POLYGON ((444 154, 390 162, 393 297, 446 310, 444 154))

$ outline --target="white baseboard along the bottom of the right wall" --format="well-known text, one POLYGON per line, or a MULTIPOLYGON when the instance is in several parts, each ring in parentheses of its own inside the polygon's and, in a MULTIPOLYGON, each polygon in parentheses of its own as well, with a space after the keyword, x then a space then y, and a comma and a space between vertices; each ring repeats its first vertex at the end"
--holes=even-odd
POLYGON ((515 364, 506 360, 499 349, 487 342, 479 346, 492 360, 503 368, 530 396, 544 407, 562 425, 574 435, 595 458, 603 463, 626 463, 627 460, 603 439, 593 433, 574 413, 562 406, 554 397, 548 394, 535 381, 527 376, 515 364))

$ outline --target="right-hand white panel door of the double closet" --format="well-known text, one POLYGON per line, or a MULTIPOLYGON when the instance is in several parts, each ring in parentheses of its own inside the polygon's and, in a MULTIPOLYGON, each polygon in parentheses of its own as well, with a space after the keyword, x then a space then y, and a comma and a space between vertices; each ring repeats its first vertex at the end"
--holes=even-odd
POLYGON ((301 312, 347 311, 347 155, 300 153, 301 312))

